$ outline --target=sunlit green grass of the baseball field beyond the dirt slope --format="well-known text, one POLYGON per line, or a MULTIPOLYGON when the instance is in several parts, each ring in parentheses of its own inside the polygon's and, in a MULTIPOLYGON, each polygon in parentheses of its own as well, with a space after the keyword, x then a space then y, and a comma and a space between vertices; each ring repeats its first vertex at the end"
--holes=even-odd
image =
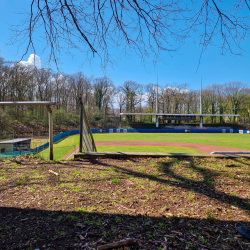
MULTIPOLYGON (((106 133, 93 134, 98 141, 166 141, 216 145, 250 150, 248 134, 186 134, 186 133, 106 133)), ((79 145, 79 135, 72 135, 54 143, 54 159, 60 160, 79 145)), ((191 148, 163 146, 98 146, 98 152, 158 152, 158 153, 201 153, 191 148)), ((40 153, 42 158, 49 158, 49 150, 40 153)))

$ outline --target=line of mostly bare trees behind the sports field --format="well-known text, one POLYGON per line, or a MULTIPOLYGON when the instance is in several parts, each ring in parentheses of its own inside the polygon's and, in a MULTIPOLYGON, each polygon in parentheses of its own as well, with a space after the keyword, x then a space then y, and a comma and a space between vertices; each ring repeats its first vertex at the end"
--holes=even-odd
MULTIPOLYGON (((129 127, 132 122, 152 123, 152 116, 121 117, 120 112, 155 112, 156 83, 142 85, 135 81, 114 83, 109 77, 55 73, 0 58, 0 102, 55 101, 54 130, 79 128, 79 97, 93 128, 129 127)), ((159 85, 159 112, 196 114, 200 112, 200 91, 188 84, 159 85)), ((249 123, 250 89, 247 83, 231 81, 211 84, 203 89, 203 113, 239 114, 230 122, 249 123)), ((198 122, 198 121, 197 121, 198 122)), ((224 118, 208 117, 205 123, 224 123, 224 118), (217 120, 216 120, 217 119, 217 120)), ((39 106, 1 107, 0 130, 43 134, 48 128, 47 109, 39 106)), ((15 132, 14 132, 15 133, 15 132)), ((18 132, 17 132, 18 133, 18 132)))

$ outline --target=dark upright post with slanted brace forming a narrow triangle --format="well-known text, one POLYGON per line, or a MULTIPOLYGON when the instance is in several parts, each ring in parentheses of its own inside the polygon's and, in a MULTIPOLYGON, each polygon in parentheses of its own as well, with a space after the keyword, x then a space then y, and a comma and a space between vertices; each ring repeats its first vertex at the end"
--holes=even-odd
POLYGON ((81 97, 79 98, 79 101, 81 106, 79 152, 97 152, 95 141, 91 132, 91 128, 89 126, 89 121, 81 97))

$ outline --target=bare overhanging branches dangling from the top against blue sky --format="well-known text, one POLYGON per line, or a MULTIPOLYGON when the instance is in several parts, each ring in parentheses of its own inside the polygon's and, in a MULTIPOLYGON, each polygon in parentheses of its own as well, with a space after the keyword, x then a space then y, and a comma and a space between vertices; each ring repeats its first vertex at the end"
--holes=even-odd
POLYGON ((28 18, 25 15, 18 25, 15 40, 26 42, 26 54, 35 52, 37 32, 44 34, 56 63, 61 52, 72 54, 76 49, 85 58, 99 55, 105 66, 113 61, 111 47, 156 62, 161 51, 176 51, 194 32, 202 52, 219 37, 221 52, 235 53, 234 46, 240 48, 250 33, 249 15, 242 14, 250 10, 248 0, 30 1, 28 18))

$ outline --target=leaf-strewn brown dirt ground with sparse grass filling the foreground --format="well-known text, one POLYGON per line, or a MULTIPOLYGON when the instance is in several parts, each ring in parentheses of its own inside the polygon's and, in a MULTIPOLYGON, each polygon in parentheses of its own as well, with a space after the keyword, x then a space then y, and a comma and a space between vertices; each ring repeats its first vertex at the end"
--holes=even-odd
POLYGON ((0 159, 0 249, 250 249, 250 160, 0 159), (103 248, 113 249, 113 248, 103 248))

